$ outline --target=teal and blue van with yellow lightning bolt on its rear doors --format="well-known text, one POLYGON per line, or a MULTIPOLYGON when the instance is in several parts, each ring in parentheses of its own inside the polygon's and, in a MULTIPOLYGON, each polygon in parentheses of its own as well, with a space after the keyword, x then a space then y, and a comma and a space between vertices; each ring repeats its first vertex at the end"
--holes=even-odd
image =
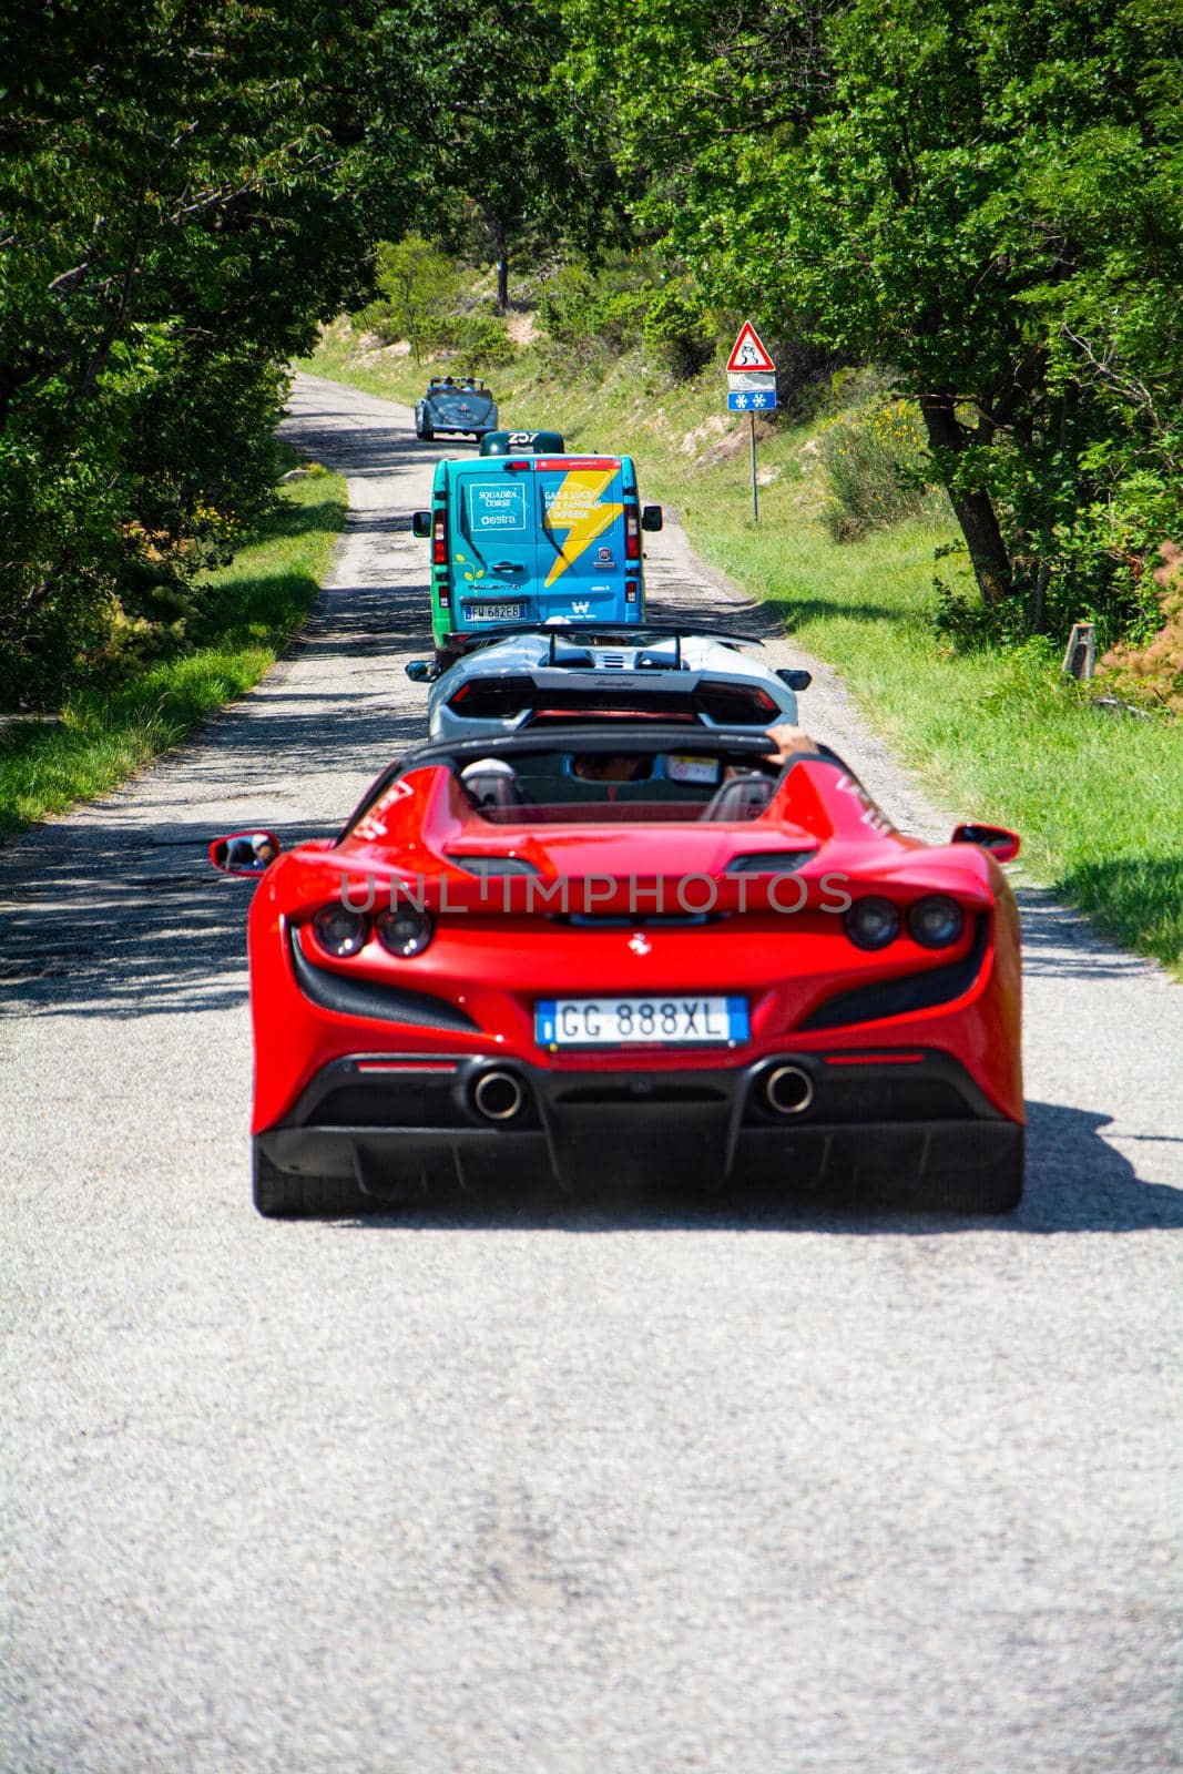
POLYGON ((431 538, 431 630, 447 658, 450 635, 481 628, 640 623, 640 532, 662 529, 662 507, 642 509, 631 456, 568 456, 553 431, 509 431, 475 459, 436 463, 431 511, 411 529, 431 538))

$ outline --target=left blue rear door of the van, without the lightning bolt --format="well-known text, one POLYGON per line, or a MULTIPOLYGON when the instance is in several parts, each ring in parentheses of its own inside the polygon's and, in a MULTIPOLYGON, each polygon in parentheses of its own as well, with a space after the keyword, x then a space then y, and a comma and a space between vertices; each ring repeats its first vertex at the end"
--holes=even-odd
POLYGON ((486 456, 452 470, 449 577, 456 628, 539 621, 532 468, 532 461, 486 456))

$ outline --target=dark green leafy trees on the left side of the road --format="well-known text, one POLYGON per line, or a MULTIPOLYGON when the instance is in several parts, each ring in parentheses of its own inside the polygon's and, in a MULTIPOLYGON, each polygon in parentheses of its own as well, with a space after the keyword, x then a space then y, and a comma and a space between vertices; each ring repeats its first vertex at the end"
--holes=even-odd
POLYGON ((0 694, 101 655, 115 600, 149 619, 266 497, 277 364, 401 220, 371 25, 369 0, 0 21, 0 694))

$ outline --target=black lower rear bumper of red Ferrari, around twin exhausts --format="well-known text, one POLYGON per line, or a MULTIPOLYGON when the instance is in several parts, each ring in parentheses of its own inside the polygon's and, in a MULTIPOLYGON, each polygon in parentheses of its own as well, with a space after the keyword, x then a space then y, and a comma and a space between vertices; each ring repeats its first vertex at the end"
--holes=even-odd
POLYGON ((1023 1130, 947 1054, 777 1054, 711 1071, 571 1071, 454 1056, 353 1056, 257 1135, 280 1171, 408 1185, 658 1183, 1013 1206, 1023 1130))

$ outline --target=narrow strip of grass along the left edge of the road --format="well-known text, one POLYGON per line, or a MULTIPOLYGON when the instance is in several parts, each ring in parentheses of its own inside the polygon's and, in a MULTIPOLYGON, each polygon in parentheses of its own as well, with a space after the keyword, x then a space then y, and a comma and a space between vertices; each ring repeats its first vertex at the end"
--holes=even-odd
POLYGON ((250 690, 300 628, 346 509, 339 475, 293 481, 257 539, 209 575, 216 596, 192 653, 73 697, 60 726, 21 722, 0 734, 0 837, 105 793, 250 690))

